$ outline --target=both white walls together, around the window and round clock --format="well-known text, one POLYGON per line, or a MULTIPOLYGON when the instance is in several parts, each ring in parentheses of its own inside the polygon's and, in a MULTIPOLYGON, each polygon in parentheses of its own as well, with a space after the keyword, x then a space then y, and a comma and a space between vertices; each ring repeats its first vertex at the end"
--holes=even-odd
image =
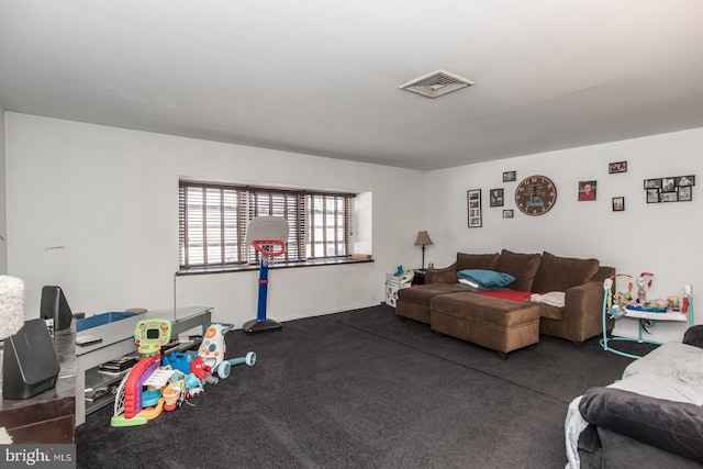
MULTIPOLYGON (((198 177, 369 192, 361 217, 372 235, 373 264, 271 271, 269 316, 286 321, 376 304, 395 266, 417 267, 419 230, 434 245, 426 263, 450 264, 457 250, 549 250, 595 257, 618 272, 655 272, 650 298, 703 287, 703 179, 692 202, 647 204, 643 180, 700 171, 703 130, 528 155, 420 172, 169 135, 5 113, 8 272, 26 283, 26 316, 36 317, 41 288, 59 284, 74 311, 94 314, 131 306, 170 308, 178 268, 178 178, 198 177), (609 163, 628 171, 609 175, 609 163), (277 168, 276 171, 263 168, 277 168), (558 200, 546 215, 520 213, 517 181, 545 175, 558 200), (598 181, 598 200, 578 202, 578 182, 598 181), (426 187, 422 190, 408 188, 426 187), (505 206, 488 191, 505 189, 505 206), (483 226, 467 227, 466 191, 483 190, 483 226), (611 198, 625 197, 624 212, 611 198), (502 219, 513 209, 514 219, 502 219), (426 216, 426 217, 425 217, 426 216)), ((366 246, 365 246, 366 247, 366 246)), ((362 249, 366 250, 366 249, 362 249)), ((215 308, 220 321, 256 316, 256 271, 179 277, 179 305, 215 308)), ((620 287, 624 288, 623 286, 620 287)), ((696 323, 703 323, 699 314, 696 323)), ((655 338, 678 339, 682 327, 658 323, 655 338)), ((634 335, 618 322, 617 334, 634 335)))

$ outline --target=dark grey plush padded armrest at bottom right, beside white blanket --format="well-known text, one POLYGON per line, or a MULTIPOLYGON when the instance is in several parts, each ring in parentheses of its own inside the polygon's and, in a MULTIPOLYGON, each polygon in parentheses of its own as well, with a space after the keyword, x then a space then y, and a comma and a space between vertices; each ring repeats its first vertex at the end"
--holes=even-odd
POLYGON ((593 425, 703 462, 703 410, 695 404, 591 388, 583 394, 579 412, 593 425))

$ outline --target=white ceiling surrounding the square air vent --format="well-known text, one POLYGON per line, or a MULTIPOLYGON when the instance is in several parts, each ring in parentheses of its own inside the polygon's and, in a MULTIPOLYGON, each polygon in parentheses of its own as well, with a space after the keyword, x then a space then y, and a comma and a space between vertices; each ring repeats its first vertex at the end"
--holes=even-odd
POLYGON ((703 2, 0 0, 0 102, 447 168, 703 127, 703 2), (399 89, 439 68, 476 85, 399 89))

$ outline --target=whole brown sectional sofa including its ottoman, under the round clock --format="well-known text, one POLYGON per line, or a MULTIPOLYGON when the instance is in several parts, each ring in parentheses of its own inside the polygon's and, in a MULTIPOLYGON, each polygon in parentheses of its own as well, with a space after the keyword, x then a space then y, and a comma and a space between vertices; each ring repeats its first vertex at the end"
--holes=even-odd
MULTIPOLYGON (((425 284, 399 291, 395 314, 429 324, 433 331, 494 349, 510 351, 539 342, 539 334, 581 344, 603 332, 603 280, 615 273, 596 259, 550 253, 457 253, 444 269, 428 270, 425 284), (515 277, 518 292, 565 292, 563 306, 514 301, 467 291, 458 284, 464 269, 493 270, 515 277)), ((527 293, 525 293, 525 297, 527 293)), ((613 327, 609 319, 606 328, 613 327)))

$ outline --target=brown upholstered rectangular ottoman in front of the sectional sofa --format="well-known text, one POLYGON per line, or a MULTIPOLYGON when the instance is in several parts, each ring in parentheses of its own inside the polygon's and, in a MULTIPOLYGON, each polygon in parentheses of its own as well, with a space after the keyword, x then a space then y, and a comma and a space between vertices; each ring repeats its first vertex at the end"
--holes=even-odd
POLYGON ((429 301, 433 331, 471 342, 507 358, 539 342, 539 306, 470 292, 437 294, 429 301))

